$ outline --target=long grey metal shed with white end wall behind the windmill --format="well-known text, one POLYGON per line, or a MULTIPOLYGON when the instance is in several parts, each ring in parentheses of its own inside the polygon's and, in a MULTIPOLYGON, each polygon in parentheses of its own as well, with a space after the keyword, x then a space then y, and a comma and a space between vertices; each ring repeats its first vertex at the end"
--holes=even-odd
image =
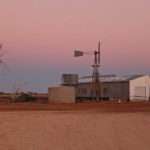
MULTIPOLYGON (((102 76, 100 77, 101 99, 104 100, 149 100, 149 75, 102 76)), ((91 78, 80 80, 76 87, 77 99, 92 99, 91 78)))

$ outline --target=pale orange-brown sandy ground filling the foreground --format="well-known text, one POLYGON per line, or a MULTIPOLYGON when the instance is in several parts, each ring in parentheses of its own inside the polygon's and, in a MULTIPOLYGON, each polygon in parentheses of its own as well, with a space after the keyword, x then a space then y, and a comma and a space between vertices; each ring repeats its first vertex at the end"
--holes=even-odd
POLYGON ((150 112, 0 112, 0 150, 150 150, 150 112))

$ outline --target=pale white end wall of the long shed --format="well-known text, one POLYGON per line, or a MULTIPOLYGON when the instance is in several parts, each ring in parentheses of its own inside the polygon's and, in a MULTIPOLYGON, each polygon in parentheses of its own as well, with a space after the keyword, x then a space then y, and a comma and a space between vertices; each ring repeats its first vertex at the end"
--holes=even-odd
POLYGON ((150 77, 148 75, 130 80, 129 82, 130 100, 149 100, 150 97, 150 77), (145 94, 144 94, 145 93, 145 94))

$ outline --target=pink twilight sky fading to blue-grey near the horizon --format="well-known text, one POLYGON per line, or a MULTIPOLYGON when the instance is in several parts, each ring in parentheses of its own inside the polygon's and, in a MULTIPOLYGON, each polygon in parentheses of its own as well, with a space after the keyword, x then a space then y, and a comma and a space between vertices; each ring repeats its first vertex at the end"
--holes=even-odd
MULTIPOLYGON (((102 41, 101 73, 150 73, 149 0, 0 0, 0 42, 9 71, 0 91, 46 91, 62 73, 91 73, 102 41)), ((2 67, 1 67, 2 68, 2 67)))

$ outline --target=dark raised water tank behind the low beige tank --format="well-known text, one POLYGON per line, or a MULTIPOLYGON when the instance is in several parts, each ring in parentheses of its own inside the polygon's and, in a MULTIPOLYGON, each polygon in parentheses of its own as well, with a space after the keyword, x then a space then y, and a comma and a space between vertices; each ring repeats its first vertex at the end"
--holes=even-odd
POLYGON ((63 74, 62 85, 73 86, 77 85, 79 80, 78 74, 63 74))

